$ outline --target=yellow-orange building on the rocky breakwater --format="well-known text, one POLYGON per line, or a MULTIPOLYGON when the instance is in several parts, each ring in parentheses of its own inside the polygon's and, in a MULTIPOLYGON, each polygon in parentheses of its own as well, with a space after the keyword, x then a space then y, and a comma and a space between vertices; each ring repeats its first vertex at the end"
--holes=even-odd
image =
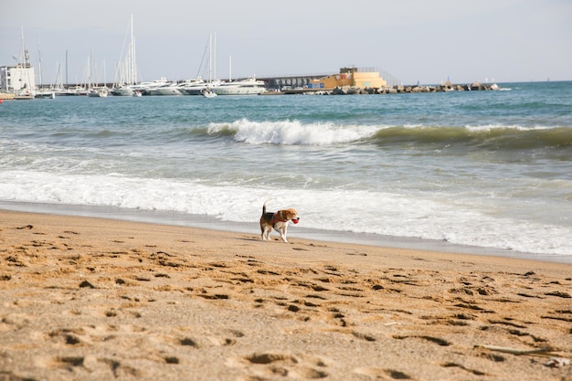
POLYGON ((342 87, 354 87, 360 89, 379 89, 387 86, 387 81, 379 76, 374 69, 358 69, 355 67, 342 68, 339 74, 311 79, 308 82, 310 89, 332 90, 342 87))

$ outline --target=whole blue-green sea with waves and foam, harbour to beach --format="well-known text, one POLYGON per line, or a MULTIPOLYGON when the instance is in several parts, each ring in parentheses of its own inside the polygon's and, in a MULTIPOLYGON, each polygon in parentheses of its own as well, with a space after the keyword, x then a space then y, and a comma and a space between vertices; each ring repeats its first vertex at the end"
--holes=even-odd
POLYGON ((572 82, 500 86, 5 101, 0 207, 260 234, 271 197, 291 237, 572 262, 572 82))

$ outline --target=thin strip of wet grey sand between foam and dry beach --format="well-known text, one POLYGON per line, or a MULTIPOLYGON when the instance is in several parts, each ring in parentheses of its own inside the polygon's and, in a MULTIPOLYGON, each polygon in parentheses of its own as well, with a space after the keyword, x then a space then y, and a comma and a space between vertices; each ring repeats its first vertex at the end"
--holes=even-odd
MULTIPOLYGON (((183 212, 127 209, 114 206, 73 206, 0 201, 0 210, 41 213, 48 215, 55 214, 61 216, 101 217, 188 228, 206 228, 235 233, 257 234, 260 229, 257 222, 240 223, 222 221, 216 217, 189 215, 183 212)), ((387 249, 416 249, 423 251, 440 251, 512 259, 532 259, 538 261, 572 264, 572 256, 538 254, 515 251, 511 249, 484 248, 454 244, 445 240, 436 239, 380 236, 377 234, 354 233, 350 231, 302 228, 299 226, 294 227, 292 225, 289 229, 289 236, 305 239, 316 239, 326 242, 368 245, 387 249)))

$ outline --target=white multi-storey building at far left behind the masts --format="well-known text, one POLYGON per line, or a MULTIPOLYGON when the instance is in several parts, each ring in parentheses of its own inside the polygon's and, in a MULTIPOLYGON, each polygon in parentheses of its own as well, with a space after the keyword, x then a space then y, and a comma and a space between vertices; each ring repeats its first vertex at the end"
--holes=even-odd
POLYGON ((36 75, 30 65, 30 59, 25 54, 26 63, 16 66, 0 67, 0 91, 16 94, 16 98, 34 98, 36 91, 36 75))

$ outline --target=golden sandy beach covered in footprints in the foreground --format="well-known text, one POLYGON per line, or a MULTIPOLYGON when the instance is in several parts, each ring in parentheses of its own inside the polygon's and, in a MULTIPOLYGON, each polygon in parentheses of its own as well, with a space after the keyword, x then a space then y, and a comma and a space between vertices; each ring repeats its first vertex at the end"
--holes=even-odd
POLYGON ((572 380, 572 266, 0 211, 0 380, 572 380))

